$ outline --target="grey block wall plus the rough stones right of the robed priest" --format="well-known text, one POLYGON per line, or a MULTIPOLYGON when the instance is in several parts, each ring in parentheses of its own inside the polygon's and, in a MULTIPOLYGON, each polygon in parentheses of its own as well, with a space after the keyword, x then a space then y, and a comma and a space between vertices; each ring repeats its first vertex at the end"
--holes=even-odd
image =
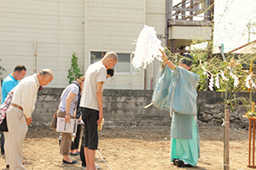
MULTIPOLYGON (((49 123, 53 113, 59 104, 63 88, 43 88, 38 92, 36 109, 32 113, 33 122, 49 123)), ((106 123, 110 125, 133 126, 144 120, 160 120, 160 126, 169 125, 171 122, 168 111, 157 110, 153 105, 144 109, 150 104, 152 90, 113 90, 105 89, 103 92, 103 111, 106 123)), ((224 101, 222 93, 198 92, 197 108, 199 113, 200 126, 219 126, 224 117, 224 101)), ((239 93, 237 97, 248 98, 248 93, 239 93)), ((256 96, 253 96, 255 101, 256 96)), ((236 127, 247 127, 247 118, 242 118, 246 109, 242 105, 236 105, 235 111, 230 111, 230 122, 235 122, 236 127)))

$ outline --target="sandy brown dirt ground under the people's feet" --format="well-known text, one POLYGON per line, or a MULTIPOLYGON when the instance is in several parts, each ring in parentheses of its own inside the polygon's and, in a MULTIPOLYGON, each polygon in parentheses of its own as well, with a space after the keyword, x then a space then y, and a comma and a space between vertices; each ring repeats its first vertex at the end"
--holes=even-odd
MULTIPOLYGON (((99 153, 96 164, 101 169, 224 169, 223 127, 199 127, 201 158, 196 167, 175 167, 170 162, 170 127, 103 127, 99 132, 99 153), (108 163, 108 165, 102 161, 108 163), (109 167, 110 168, 109 168, 109 167)), ((79 161, 66 165, 61 161, 58 133, 46 125, 32 125, 23 144, 26 169, 81 169, 79 161)), ((6 169, 0 157, 0 169, 6 169)), ((230 169, 251 169, 248 163, 248 132, 230 128, 230 169)))

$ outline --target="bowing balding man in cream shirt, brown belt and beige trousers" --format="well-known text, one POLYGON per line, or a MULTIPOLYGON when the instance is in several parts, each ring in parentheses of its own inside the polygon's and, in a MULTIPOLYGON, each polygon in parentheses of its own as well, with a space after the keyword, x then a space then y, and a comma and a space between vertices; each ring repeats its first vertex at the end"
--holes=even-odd
POLYGON ((49 69, 40 71, 30 77, 24 78, 15 88, 11 105, 7 112, 7 125, 9 128, 9 156, 10 170, 25 169, 22 165, 22 144, 26 137, 27 126, 32 122, 32 111, 38 96, 38 88, 46 86, 54 78, 49 69))

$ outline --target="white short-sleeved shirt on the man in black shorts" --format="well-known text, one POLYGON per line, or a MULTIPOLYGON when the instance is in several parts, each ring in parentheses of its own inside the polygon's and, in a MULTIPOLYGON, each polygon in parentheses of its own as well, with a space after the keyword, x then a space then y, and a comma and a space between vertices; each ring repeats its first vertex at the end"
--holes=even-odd
MULTIPOLYGON (((85 72, 83 93, 80 101, 80 107, 86 107, 99 111, 99 105, 96 98, 97 82, 106 82, 107 69, 102 65, 102 61, 98 61, 90 65, 85 72)), ((103 86, 102 86, 103 92, 103 86)))

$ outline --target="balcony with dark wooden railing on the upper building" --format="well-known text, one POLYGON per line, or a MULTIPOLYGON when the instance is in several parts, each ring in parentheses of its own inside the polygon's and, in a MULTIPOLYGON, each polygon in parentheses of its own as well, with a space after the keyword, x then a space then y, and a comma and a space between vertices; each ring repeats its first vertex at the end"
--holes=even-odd
POLYGON ((167 44, 172 53, 184 53, 193 40, 212 39, 213 1, 167 1, 167 44))

